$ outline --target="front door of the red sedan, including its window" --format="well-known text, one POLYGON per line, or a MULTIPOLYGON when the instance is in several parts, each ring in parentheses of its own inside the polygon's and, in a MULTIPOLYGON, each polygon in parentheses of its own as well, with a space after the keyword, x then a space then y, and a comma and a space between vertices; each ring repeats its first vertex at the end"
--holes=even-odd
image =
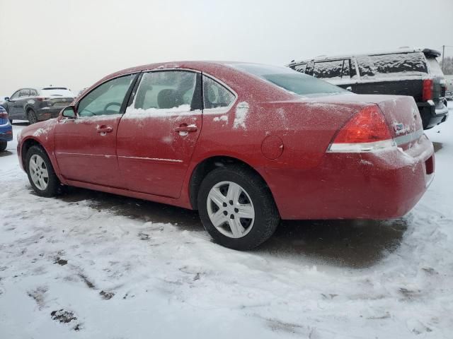
POLYGON ((75 119, 55 127, 55 156, 63 177, 124 188, 117 165, 116 133, 132 83, 129 74, 102 83, 76 104, 75 119))

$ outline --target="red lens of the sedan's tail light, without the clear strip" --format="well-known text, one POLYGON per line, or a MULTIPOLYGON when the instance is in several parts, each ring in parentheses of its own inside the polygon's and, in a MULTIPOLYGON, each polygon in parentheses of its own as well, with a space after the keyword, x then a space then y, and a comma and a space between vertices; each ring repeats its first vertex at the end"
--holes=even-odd
POLYGON ((372 143, 391 139, 389 127, 376 105, 358 112, 340 129, 333 143, 372 143))

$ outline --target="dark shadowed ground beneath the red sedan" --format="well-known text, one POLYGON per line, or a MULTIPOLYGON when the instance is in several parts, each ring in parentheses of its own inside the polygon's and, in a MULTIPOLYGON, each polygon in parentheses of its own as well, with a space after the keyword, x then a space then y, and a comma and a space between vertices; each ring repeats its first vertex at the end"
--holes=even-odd
MULTIPOLYGON (((109 210, 143 222, 171 222, 180 230, 205 232, 198 213, 88 189, 69 188, 63 201, 88 201, 92 208, 109 210)), ((315 263, 366 268, 395 251, 408 227, 408 220, 298 220, 282 221, 268 242, 252 251, 292 261, 309 258, 315 263)))

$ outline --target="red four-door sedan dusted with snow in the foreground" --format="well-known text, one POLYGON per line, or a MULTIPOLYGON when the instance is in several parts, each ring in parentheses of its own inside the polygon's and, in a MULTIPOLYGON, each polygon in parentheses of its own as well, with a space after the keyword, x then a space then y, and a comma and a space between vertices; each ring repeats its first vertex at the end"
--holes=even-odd
POLYGON ((18 157, 62 185, 199 210, 216 242, 258 246, 282 219, 398 218, 434 173, 412 97, 356 95, 287 67, 185 61, 106 76, 18 157))

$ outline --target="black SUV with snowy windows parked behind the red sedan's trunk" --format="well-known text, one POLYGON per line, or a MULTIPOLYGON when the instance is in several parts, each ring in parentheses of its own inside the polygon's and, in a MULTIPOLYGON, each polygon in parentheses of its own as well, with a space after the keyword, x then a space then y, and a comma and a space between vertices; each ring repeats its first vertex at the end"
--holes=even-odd
POLYGON ((433 49, 398 49, 292 61, 292 69, 359 94, 410 95, 417 102, 423 129, 445 121, 445 78, 433 49))

